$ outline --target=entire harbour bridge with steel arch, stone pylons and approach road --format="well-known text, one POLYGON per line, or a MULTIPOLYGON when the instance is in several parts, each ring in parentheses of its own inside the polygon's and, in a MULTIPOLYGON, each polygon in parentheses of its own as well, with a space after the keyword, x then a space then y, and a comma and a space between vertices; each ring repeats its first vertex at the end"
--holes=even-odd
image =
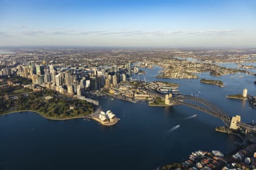
POLYGON ((189 95, 180 95, 180 96, 172 96, 172 95, 162 95, 153 91, 147 91, 147 94, 150 94, 153 97, 161 97, 162 99, 169 100, 168 102, 170 106, 174 105, 186 105, 187 107, 197 109, 198 111, 208 113, 211 116, 220 118, 224 122, 224 124, 230 129, 238 129, 242 128, 246 131, 253 131, 256 133, 255 124, 248 124, 245 122, 241 122, 240 116, 230 117, 225 111, 218 108, 216 105, 212 104, 210 101, 205 100, 198 96, 189 96, 189 95))

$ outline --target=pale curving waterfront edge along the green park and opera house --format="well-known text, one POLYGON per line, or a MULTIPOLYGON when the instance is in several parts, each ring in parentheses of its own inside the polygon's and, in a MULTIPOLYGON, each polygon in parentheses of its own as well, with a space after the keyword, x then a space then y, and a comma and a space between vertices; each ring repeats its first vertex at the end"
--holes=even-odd
POLYGON ((117 121, 112 122, 112 124, 108 124, 109 122, 103 124, 103 123, 102 123, 98 118, 96 118, 96 117, 77 116, 77 117, 67 117, 67 118, 51 118, 51 117, 46 117, 46 116, 44 116, 42 113, 39 113, 39 112, 36 112, 36 111, 31 111, 31 110, 13 111, 13 112, 1 114, 0 116, 5 116, 5 115, 7 115, 7 114, 18 113, 18 112, 33 112, 33 113, 39 114, 39 116, 41 116, 41 117, 43 117, 43 118, 46 118, 46 119, 48 119, 48 120, 72 120, 72 119, 75 119, 75 118, 89 118, 89 119, 92 119, 92 120, 94 120, 94 121, 100 123, 101 125, 105 125, 105 126, 112 126, 112 125, 115 125, 115 124, 117 124, 117 122, 120 120, 119 118, 117 118, 117 121))

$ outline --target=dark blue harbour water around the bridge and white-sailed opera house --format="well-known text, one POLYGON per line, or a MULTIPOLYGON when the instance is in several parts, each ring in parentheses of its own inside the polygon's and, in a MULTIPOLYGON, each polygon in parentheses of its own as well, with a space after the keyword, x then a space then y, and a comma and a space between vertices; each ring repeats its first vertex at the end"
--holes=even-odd
MULTIPOLYGON (((147 81, 180 83, 183 94, 200 91, 204 97, 230 115, 241 114, 242 121, 256 120, 256 110, 240 100, 226 99, 227 94, 256 95, 254 76, 221 79, 224 88, 201 84, 199 79, 156 79, 160 67, 145 69, 147 81)), ((144 102, 100 99, 104 110, 111 109, 121 121, 105 127, 82 119, 52 121, 36 113, 13 113, 0 117, 0 169, 154 169, 169 162, 179 162, 196 150, 234 150, 236 137, 217 133, 221 120, 184 106, 148 107, 144 102), (196 117, 186 119, 193 114, 196 117), (174 131, 169 131, 180 125, 174 131)))

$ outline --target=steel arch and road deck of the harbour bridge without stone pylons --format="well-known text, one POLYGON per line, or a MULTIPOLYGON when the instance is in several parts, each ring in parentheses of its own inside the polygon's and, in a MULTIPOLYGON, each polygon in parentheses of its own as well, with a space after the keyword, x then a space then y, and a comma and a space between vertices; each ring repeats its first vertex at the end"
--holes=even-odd
MULTIPOLYGON (((144 90, 144 89, 143 91, 146 91, 147 94, 150 94, 153 97, 161 97, 162 99, 165 98, 164 95, 157 94, 155 91, 144 90)), ((200 97, 187 96, 187 95, 174 96, 174 97, 171 97, 170 100, 172 105, 177 105, 177 104, 186 105, 187 107, 191 107, 201 112, 208 113, 214 117, 218 117, 224 122, 226 126, 228 127, 230 126, 230 122, 232 118, 227 113, 225 113, 222 109, 216 107, 215 105, 210 103, 210 101, 208 100, 202 99, 200 97)), ((256 133, 255 125, 246 124, 244 122, 238 122, 237 125, 240 126, 241 128, 248 129, 256 133)))

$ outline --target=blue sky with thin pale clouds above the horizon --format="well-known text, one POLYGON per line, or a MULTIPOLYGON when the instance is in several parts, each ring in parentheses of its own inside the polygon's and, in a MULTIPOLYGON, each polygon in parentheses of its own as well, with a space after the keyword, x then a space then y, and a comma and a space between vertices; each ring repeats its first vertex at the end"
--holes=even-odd
POLYGON ((256 46, 256 1, 0 0, 0 45, 256 46))

